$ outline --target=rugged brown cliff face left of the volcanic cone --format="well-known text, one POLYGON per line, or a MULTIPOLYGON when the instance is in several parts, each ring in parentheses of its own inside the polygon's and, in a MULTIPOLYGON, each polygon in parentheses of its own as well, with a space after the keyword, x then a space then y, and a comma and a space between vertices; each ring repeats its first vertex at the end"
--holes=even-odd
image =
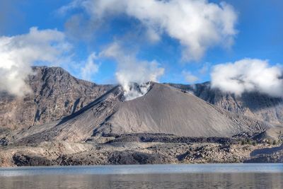
POLYGON ((76 79, 59 67, 33 67, 28 85, 33 93, 17 98, 0 94, 0 127, 41 125, 75 113, 112 86, 76 79))

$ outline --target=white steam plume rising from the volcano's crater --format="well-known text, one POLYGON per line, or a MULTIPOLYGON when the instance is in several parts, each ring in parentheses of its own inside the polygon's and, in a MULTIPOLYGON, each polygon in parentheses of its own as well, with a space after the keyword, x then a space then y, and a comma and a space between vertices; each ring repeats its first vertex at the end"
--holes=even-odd
POLYGON ((115 73, 119 84, 124 88, 126 101, 143 96, 149 89, 148 81, 158 81, 163 75, 164 69, 159 67, 158 62, 141 61, 135 55, 127 54, 122 47, 113 42, 103 52, 101 57, 110 57, 117 62, 115 73), (138 84, 139 86, 135 86, 138 84))

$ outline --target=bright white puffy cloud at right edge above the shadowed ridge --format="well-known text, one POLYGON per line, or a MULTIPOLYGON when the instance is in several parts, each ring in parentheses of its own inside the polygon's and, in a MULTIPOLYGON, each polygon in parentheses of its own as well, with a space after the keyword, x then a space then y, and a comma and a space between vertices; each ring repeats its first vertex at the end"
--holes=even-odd
POLYGON ((273 97, 283 96, 283 69, 271 66, 267 60, 241 59, 237 62, 218 64, 213 67, 212 87, 241 95, 258 91, 273 97))

